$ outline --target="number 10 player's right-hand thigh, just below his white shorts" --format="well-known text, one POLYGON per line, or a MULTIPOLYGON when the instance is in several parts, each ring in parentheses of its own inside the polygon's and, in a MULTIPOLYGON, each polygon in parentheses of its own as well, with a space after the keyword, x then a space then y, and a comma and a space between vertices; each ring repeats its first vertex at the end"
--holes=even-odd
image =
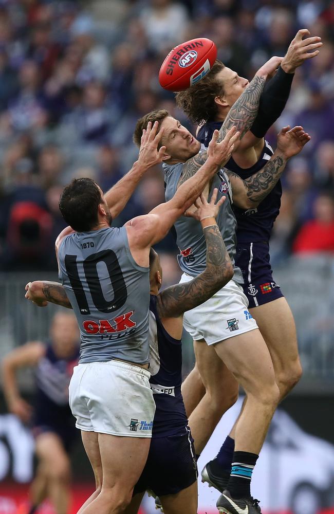
POLYGON ((132 491, 144 468, 151 438, 99 434, 102 489, 117 487, 132 491))

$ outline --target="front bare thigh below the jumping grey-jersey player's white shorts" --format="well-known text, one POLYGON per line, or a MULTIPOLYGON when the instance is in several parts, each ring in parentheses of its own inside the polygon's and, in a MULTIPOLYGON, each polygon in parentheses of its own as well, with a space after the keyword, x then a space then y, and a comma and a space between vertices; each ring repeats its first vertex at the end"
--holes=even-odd
POLYGON ((258 395, 264 388, 274 386, 273 363, 258 328, 213 346, 247 394, 258 395))

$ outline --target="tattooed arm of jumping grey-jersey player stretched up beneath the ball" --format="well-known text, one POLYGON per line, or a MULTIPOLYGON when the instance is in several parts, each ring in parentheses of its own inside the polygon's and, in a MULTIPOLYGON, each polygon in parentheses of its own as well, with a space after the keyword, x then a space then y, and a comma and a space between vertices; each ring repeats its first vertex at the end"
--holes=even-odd
MULTIPOLYGON (((237 101, 230 108, 229 114, 219 130, 218 142, 224 140, 227 132, 232 126, 235 126, 239 133, 238 139, 241 139, 244 134, 249 131, 257 115, 259 100, 265 85, 265 80, 267 76, 280 65, 281 61, 282 58, 280 57, 272 57, 257 71, 253 80, 245 88, 244 93, 240 95, 237 101)), ((237 144, 238 141, 235 141, 233 150, 236 149, 237 144)), ((196 154, 191 159, 188 159, 187 162, 184 163, 178 187, 197 173, 206 159, 207 152, 205 151, 196 154)), ((221 167, 224 166, 225 163, 222 163, 221 167)))

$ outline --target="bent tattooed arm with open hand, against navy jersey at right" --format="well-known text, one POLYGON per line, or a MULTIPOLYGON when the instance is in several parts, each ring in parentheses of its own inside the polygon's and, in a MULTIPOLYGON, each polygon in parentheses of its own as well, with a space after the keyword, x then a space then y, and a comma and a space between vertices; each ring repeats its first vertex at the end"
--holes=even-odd
POLYGON ((280 131, 277 137, 277 150, 262 170, 245 180, 232 171, 226 170, 236 206, 242 209, 257 207, 275 187, 288 159, 299 154, 304 145, 311 139, 304 132, 303 127, 296 126, 291 130, 289 128, 287 126, 280 131))

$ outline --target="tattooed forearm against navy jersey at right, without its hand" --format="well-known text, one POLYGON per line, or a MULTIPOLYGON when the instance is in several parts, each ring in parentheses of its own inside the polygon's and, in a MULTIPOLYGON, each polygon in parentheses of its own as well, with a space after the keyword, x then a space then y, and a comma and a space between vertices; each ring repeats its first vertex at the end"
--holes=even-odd
POLYGON ((227 170, 227 174, 231 180, 232 188, 233 182, 235 183, 236 180, 243 182, 248 202, 250 206, 253 206, 254 204, 259 204, 273 190, 282 175, 286 162, 284 157, 274 155, 262 170, 245 180, 230 170, 227 170))

